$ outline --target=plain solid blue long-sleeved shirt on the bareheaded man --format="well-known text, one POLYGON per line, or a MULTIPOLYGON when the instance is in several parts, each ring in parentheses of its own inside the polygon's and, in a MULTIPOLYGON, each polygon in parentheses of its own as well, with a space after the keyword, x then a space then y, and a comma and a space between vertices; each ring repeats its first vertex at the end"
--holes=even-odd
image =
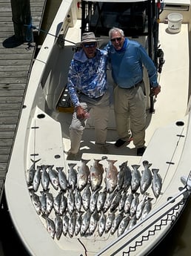
POLYGON ((121 88, 131 88, 143 79, 143 65, 147 68, 150 84, 158 86, 155 65, 147 51, 138 42, 125 39, 124 47, 115 50, 109 43, 106 47, 114 82, 121 88))

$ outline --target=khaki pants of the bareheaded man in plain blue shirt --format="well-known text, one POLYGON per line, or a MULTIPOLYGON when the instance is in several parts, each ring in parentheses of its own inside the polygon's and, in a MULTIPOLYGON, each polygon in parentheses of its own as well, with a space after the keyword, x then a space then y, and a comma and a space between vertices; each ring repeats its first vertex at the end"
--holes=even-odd
POLYGON ((131 130, 135 147, 143 147, 146 128, 144 82, 131 89, 116 86, 114 89, 114 110, 118 137, 121 140, 127 140, 131 130))

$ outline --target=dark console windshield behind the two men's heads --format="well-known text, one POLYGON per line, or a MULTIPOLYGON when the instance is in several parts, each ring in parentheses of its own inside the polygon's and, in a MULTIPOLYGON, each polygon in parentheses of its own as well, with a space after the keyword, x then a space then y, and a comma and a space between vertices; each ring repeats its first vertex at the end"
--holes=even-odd
MULTIPOLYGON (((83 3, 83 1, 82 1, 83 3)), ((108 36, 112 27, 120 27, 126 36, 148 34, 148 2, 92 2, 82 6, 82 32, 94 31, 108 36)))

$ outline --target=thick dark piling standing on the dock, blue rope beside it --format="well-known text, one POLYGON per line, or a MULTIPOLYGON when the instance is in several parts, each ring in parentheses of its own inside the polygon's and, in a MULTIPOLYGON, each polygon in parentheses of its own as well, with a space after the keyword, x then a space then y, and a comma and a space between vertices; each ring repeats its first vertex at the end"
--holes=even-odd
POLYGON ((16 40, 19 42, 33 42, 31 29, 30 0, 10 0, 12 20, 16 40), (29 27, 27 27, 29 25, 29 27))

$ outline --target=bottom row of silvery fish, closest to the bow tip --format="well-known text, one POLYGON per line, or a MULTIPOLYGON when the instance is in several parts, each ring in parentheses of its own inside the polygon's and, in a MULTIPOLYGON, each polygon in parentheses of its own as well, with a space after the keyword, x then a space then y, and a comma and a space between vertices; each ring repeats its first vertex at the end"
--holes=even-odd
MULTIPOLYGON (((147 202, 148 204, 144 207, 144 213, 141 219, 144 219, 150 211, 150 200, 147 202)), ((53 238, 56 235, 57 240, 60 239, 61 234, 64 234, 64 236, 69 235, 72 238, 78 234, 81 237, 87 237, 98 232, 98 235, 101 237, 109 232, 110 234, 117 232, 117 235, 120 236, 124 232, 132 229, 137 223, 135 215, 130 217, 130 214, 124 214, 124 212, 115 213, 115 211, 110 214, 104 214, 104 211, 100 213, 94 211, 91 213, 90 209, 85 212, 73 211, 71 215, 66 212, 62 217, 56 214, 55 220, 45 214, 42 217, 46 220, 47 232, 53 238)))

